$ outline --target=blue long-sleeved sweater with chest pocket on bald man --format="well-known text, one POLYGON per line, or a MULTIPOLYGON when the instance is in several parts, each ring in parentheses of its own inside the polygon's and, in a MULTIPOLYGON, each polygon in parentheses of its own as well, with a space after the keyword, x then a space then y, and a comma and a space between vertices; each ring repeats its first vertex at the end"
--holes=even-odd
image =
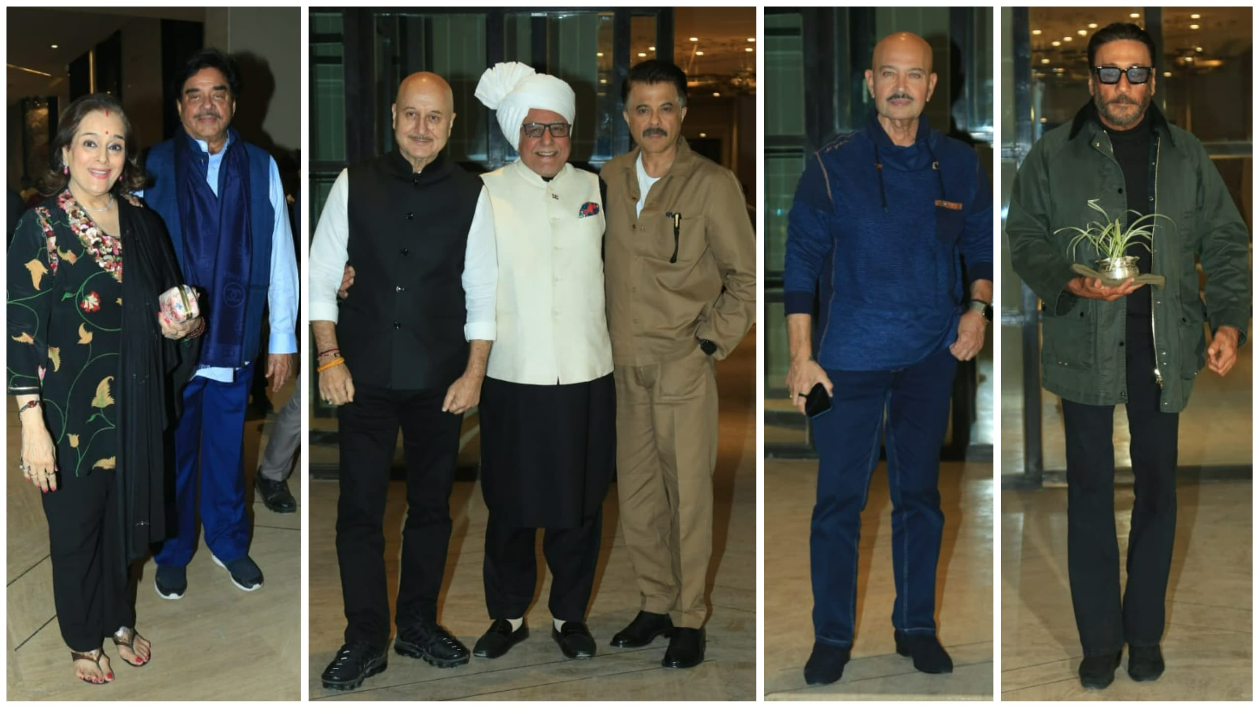
POLYGON ((785 310, 814 314, 819 296, 815 359, 827 369, 910 366, 958 337, 960 253, 970 280, 993 280, 993 193, 975 151, 924 117, 914 145, 893 145, 872 111, 800 178, 785 310))

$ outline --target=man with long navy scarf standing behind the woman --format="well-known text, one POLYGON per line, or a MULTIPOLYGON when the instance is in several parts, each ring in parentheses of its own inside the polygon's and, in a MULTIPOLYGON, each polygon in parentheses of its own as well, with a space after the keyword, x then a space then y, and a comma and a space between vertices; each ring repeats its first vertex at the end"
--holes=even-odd
POLYGON ((297 351, 297 262, 285 193, 276 161, 231 127, 239 91, 227 55, 217 49, 194 54, 176 98, 183 127, 154 146, 145 162, 152 178, 145 200, 166 222, 184 280, 202 293, 207 322, 175 432, 178 534, 155 555, 154 587, 168 599, 188 588, 198 499, 214 563, 242 591, 262 587, 248 553, 243 433, 251 364, 263 354, 265 309, 272 392, 289 379, 297 351))

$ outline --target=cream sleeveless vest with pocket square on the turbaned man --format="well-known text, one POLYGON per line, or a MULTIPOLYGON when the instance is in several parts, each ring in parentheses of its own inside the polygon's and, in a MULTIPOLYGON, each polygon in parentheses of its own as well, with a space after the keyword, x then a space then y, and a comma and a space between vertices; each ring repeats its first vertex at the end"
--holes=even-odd
POLYGON ((578 384, 611 373, 598 178, 564 165, 548 183, 517 160, 481 180, 499 259, 498 332, 486 374, 517 384, 578 384))

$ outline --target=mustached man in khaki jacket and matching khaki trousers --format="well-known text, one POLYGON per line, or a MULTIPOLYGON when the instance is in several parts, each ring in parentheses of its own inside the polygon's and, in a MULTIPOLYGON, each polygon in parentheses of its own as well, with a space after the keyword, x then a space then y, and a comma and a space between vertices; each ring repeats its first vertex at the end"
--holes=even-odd
POLYGON ((624 117, 638 147, 610 160, 605 288, 617 394, 617 496, 639 615, 616 647, 670 638, 662 665, 704 660, 713 540, 717 359, 752 326, 756 237, 730 170, 682 139, 687 76, 630 69, 624 117), (723 290, 724 288, 724 290, 723 290))

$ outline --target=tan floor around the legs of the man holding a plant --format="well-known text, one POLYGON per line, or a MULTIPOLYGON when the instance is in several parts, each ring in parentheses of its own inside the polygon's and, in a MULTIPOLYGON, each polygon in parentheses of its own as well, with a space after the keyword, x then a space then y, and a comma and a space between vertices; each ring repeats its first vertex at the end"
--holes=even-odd
MULTIPOLYGON (((1177 489, 1177 538, 1168 582, 1167 669, 1138 684, 1121 660, 1105 690, 1081 688, 1081 646, 1067 582, 1067 490, 1002 494, 1002 699, 1251 699, 1251 482, 1177 489)), ((1118 487, 1120 573, 1133 489, 1118 487)))

